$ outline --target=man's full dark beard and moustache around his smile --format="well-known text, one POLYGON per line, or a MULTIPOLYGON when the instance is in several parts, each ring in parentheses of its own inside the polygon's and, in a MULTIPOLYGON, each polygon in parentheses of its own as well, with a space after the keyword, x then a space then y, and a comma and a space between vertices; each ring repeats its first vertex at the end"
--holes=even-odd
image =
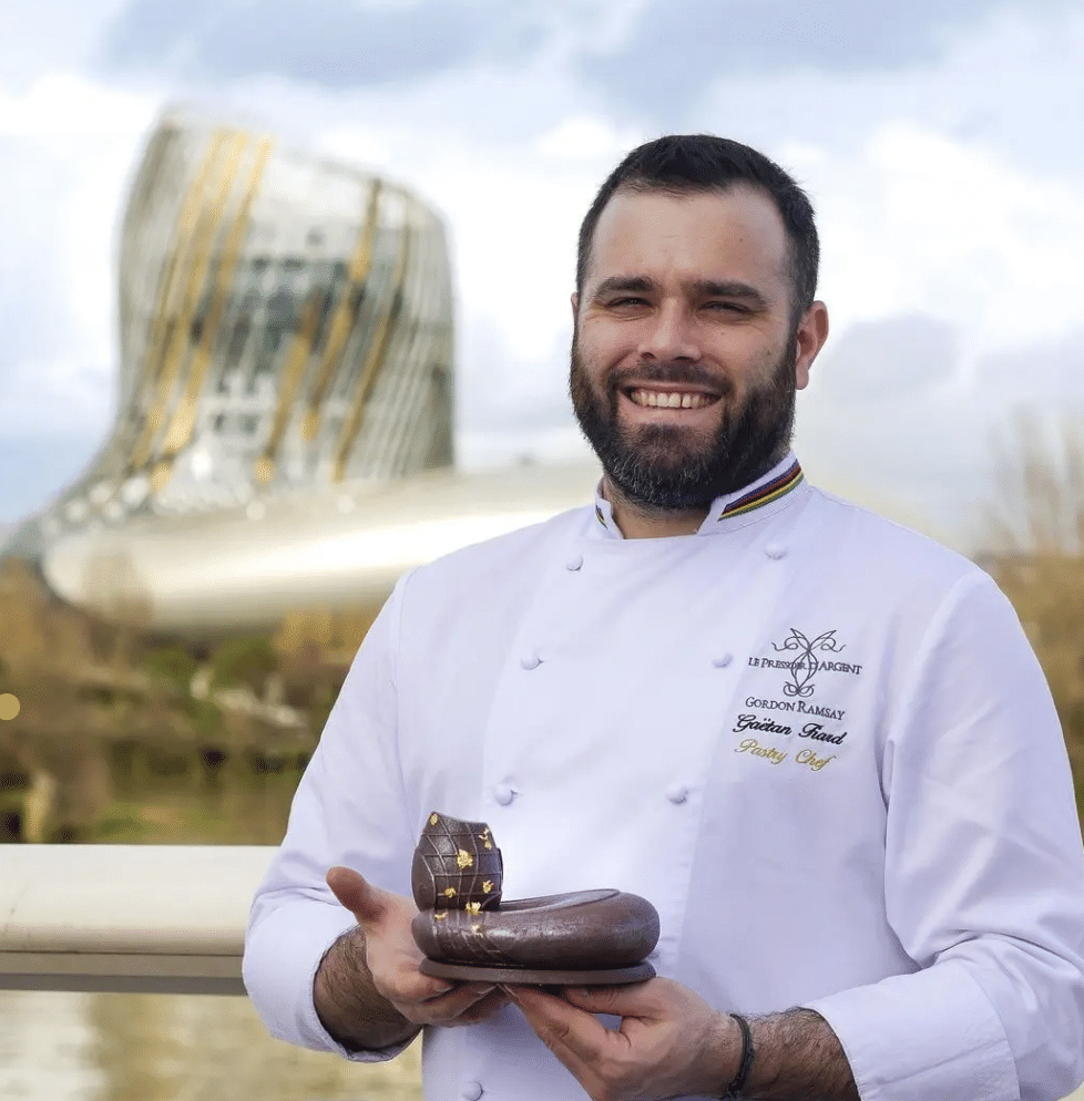
POLYGON ((572 339, 569 391, 580 429, 594 449, 607 480, 630 501, 650 510, 678 512, 707 508, 771 470, 787 453, 794 432, 794 332, 767 380, 738 404, 729 379, 722 381, 686 366, 642 363, 611 375, 604 392, 592 384, 572 339), (705 438, 677 424, 630 429, 618 414, 626 378, 644 382, 689 383, 720 391, 722 416, 714 434, 705 438))

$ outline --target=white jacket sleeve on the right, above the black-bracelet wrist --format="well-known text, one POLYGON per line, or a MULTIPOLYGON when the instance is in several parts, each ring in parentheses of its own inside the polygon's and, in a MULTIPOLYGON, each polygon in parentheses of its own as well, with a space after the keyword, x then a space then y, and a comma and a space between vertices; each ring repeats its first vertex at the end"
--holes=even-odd
POLYGON ((1084 855, 1065 744, 1009 601, 971 575, 882 764, 886 904, 919 970, 807 1007, 862 1101, 1057 1101, 1084 1078, 1084 855))

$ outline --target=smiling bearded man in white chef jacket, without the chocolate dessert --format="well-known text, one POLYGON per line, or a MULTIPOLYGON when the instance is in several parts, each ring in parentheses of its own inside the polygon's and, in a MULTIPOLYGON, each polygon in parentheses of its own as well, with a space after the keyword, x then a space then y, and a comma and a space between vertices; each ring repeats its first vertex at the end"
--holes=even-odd
POLYGON ((415 570, 374 624, 253 907, 275 1035, 376 1060, 423 1028, 430 1101, 1057 1101, 1084 1078, 1057 718, 985 574, 805 481, 817 266, 808 199, 735 142, 659 138, 603 185, 570 372, 596 500, 415 570), (507 897, 651 899, 657 977, 421 975, 434 810, 491 824, 507 897))

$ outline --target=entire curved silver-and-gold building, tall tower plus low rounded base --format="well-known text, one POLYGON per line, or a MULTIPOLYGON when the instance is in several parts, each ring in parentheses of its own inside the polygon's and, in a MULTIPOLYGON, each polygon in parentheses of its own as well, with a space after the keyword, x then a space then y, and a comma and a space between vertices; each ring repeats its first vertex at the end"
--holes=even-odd
POLYGON ((106 615, 203 632, 379 599, 597 477, 453 470, 440 218, 262 134, 161 122, 123 217, 119 320, 108 441, 3 550, 106 615))

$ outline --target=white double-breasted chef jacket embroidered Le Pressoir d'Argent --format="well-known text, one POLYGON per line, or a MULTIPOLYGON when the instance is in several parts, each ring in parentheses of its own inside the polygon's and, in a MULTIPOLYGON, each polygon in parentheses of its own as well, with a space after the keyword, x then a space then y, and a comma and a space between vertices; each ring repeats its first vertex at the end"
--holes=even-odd
MULTIPOLYGON (((352 924, 324 875, 409 896, 438 811, 490 824, 505 898, 634 892, 658 974, 822 1015, 863 1101, 1084 1079, 1084 853, 1011 606, 806 482, 723 515, 746 492, 654 539, 600 498, 400 582, 254 903, 245 982, 275 1036, 346 1053, 313 1007, 352 924)), ((423 1076, 430 1101, 584 1097, 514 1007, 427 1029, 423 1076)))

